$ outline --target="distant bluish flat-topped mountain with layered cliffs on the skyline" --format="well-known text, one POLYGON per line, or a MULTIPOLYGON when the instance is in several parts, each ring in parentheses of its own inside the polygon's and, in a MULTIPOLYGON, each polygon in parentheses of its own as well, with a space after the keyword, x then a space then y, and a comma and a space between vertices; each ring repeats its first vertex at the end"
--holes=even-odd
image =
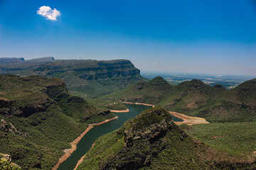
MULTIPOLYGON (((11 59, 9 59, 11 60, 11 59)), ((71 94, 95 98, 124 89, 144 79, 129 60, 55 60, 45 57, 9 63, 0 62, 0 74, 59 77, 71 94)))

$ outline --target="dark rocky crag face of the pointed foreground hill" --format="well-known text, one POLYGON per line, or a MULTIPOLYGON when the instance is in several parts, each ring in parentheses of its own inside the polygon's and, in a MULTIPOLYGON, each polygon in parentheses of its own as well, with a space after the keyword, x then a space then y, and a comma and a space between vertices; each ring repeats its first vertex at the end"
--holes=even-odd
POLYGON ((117 131, 117 135, 124 136, 124 147, 107 162, 102 162, 99 169, 140 169, 150 166, 152 159, 166 149, 169 132, 178 132, 177 140, 187 137, 162 108, 146 111, 127 124, 130 128, 117 131))

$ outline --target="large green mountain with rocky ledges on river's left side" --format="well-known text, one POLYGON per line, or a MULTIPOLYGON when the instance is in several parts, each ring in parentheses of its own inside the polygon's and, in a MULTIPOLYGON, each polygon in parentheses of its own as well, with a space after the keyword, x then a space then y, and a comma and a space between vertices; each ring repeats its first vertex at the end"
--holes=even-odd
POLYGON ((22 169, 51 169, 87 123, 114 116, 70 96, 59 78, 0 74, 0 153, 22 169))

